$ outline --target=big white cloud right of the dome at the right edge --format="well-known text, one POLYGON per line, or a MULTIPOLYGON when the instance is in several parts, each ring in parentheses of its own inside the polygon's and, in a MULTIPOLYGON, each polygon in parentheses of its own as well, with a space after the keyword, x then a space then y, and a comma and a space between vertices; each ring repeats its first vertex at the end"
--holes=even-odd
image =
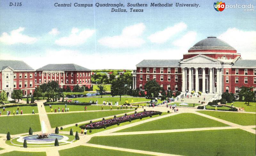
POLYGON ((228 28, 219 38, 241 53, 244 59, 256 59, 256 31, 228 28))

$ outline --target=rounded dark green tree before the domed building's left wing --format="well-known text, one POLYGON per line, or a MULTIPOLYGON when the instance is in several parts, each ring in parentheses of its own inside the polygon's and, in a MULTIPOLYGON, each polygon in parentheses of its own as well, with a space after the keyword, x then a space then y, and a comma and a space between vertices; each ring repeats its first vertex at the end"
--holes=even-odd
POLYGON ((160 85, 156 82, 156 80, 150 80, 144 85, 145 90, 147 91, 147 95, 153 97, 158 97, 159 91, 161 90, 160 85))

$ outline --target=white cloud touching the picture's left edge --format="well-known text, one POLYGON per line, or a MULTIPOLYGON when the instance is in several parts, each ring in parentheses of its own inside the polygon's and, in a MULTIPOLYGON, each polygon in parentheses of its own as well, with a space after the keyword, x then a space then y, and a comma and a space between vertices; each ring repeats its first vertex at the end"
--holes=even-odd
POLYGON ((22 31, 24 31, 24 27, 19 27, 18 29, 12 30, 10 35, 4 32, 0 37, 0 42, 5 44, 15 44, 15 43, 23 43, 23 44, 31 44, 35 43, 37 39, 35 37, 29 37, 28 35, 23 35, 22 31))

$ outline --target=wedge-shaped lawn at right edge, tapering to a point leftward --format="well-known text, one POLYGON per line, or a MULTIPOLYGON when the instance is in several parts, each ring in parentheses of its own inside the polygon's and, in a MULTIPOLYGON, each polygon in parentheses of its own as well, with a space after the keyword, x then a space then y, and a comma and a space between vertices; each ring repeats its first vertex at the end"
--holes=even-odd
POLYGON ((206 115, 213 116, 222 120, 236 123, 238 125, 249 126, 255 125, 256 114, 251 113, 233 113, 233 112, 219 112, 219 111, 197 111, 206 115))

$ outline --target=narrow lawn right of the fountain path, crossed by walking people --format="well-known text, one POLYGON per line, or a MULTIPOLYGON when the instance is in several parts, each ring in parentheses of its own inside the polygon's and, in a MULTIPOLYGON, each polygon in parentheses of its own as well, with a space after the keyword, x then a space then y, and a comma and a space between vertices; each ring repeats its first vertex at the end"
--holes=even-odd
MULTIPOLYGON (((47 105, 47 106, 44 106, 44 107, 45 107, 46 112, 51 112, 50 106, 47 105)), ((58 112, 58 108, 59 107, 60 107, 60 112, 61 112, 62 108, 64 108, 64 110, 65 110, 65 105, 52 105, 53 112, 54 112, 55 108, 57 109, 57 112, 58 112)), ((84 111, 84 107, 85 107, 85 105, 68 105, 68 103, 67 103, 67 108, 69 108, 69 112, 84 111)), ((104 110, 110 110, 110 106, 108 106, 108 105, 103 106, 103 109, 104 110)), ((112 109, 113 110, 117 109, 117 107, 113 106, 112 109)), ((128 107, 128 109, 130 109, 130 106, 128 107)), ((87 109, 86 110, 87 111, 101 110, 101 106, 100 105, 87 105, 87 109)))

